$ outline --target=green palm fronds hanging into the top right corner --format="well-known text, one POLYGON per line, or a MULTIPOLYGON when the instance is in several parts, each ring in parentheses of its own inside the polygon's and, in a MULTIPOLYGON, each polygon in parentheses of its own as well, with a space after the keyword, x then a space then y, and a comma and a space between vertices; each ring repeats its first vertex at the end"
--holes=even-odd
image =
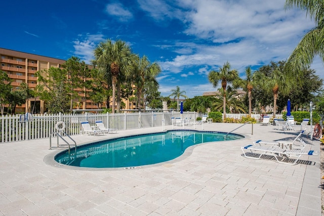
POLYGON ((302 69, 313 62, 314 56, 319 55, 324 61, 324 4, 322 0, 286 0, 286 9, 294 7, 306 10, 315 21, 315 27, 303 36, 287 61, 291 71, 302 73, 302 69))

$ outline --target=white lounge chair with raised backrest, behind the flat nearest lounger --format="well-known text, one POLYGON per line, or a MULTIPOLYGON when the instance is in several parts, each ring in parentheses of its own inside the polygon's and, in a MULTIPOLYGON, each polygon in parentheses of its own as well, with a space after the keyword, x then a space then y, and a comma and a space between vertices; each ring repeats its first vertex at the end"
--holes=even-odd
POLYGON ((300 136, 306 131, 307 127, 298 134, 298 136, 293 140, 293 141, 284 141, 284 140, 279 140, 279 141, 264 141, 264 140, 258 140, 253 142, 255 146, 262 146, 262 145, 272 145, 275 147, 281 147, 283 148, 284 146, 287 149, 299 149, 303 150, 306 147, 306 143, 300 138, 300 136), (299 141, 301 144, 296 144, 296 141, 299 141))

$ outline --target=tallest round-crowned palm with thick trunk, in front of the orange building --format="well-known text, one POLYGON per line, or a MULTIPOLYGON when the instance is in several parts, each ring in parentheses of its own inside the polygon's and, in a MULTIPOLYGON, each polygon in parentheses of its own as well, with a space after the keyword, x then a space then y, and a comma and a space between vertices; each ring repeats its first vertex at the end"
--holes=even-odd
MULTIPOLYGON (((94 50, 95 60, 92 61, 92 64, 98 66, 98 71, 104 73, 107 79, 111 77, 112 113, 115 112, 117 86, 120 87, 120 84, 117 84, 118 77, 120 77, 120 72, 130 72, 131 54, 130 47, 123 40, 116 40, 113 43, 111 39, 107 39, 94 50)), ((117 109, 119 110, 120 107, 117 109)))

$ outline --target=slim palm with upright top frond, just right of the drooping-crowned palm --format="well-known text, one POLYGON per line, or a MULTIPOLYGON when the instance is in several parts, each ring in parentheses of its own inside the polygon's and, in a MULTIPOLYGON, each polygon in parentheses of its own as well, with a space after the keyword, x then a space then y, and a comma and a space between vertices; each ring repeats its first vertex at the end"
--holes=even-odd
POLYGON ((255 85, 254 77, 251 71, 251 67, 247 67, 245 69, 246 79, 235 79, 233 81, 234 86, 238 86, 243 88, 244 90, 247 90, 248 92, 248 98, 249 98, 249 115, 252 114, 252 90, 253 86, 255 85))

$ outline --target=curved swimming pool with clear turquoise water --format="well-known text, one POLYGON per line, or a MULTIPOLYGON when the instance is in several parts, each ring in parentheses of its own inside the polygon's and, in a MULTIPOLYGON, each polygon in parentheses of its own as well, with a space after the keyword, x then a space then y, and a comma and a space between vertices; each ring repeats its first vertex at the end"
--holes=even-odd
POLYGON ((175 159, 186 148, 207 142, 242 139, 244 136, 220 132, 172 130, 115 138, 78 146, 55 156, 59 163, 93 168, 137 167, 175 159))

